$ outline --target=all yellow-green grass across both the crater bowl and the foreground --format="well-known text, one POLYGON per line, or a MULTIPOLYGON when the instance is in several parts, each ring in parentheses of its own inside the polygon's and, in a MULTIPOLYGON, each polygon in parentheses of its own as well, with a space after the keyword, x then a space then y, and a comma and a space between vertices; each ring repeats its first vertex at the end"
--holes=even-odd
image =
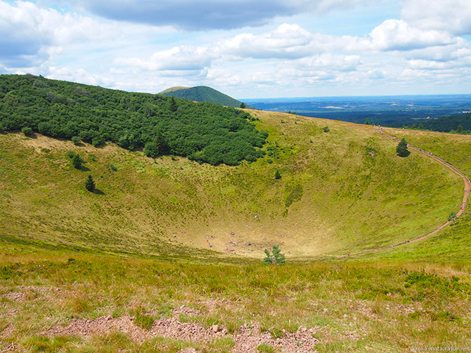
MULTIPOLYGON (((231 352, 243 325, 273 338, 309 329, 319 352, 467 347, 469 211, 422 242, 330 257, 435 229, 459 208, 462 180, 414 151, 396 157, 395 143, 369 126, 329 121, 323 133, 325 121, 254 115, 270 133, 270 155, 238 167, 0 135, 0 351, 14 342, 19 352, 231 352), (67 150, 91 171, 71 167, 67 150), (88 173, 101 195, 84 191, 88 173), (229 240, 256 250, 227 255, 229 240), (290 252, 287 265, 261 265, 263 247, 275 244, 290 252), (133 317, 150 332, 182 305, 199 311, 180 322, 228 334, 45 334, 103 317, 133 317)), ((406 133, 470 173, 469 137, 406 133)))

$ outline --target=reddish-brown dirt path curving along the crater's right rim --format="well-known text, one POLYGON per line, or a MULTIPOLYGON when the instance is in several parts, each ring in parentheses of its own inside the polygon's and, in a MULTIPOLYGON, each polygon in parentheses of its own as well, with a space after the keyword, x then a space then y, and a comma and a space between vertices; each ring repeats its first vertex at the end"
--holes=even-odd
MULTIPOLYGON (((386 136, 388 138, 391 138, 393 140, 397 140, 397 141, 400 141, 399 138, 395 137, 395 136, 392 136, 392 135, 388 135, 386 133, 383 133, 382 130, 380 129, 377 129, 375 128, 375 131, 377 133, 380 133, 381 135, 383 136, 386 136)), ((445 160, 442 160, 442 158, 439 158, 437 157, 436 155, 433 155, 432 153, 429 153, 429 152, 426 152, 425 150, 422 150, 420 148, 417 148, 417 147, 414 147, 413 145, 411 145, 410 143, 407 144, 407 147, 409 147, 411 150, 416 150, 417 152, 420 152, 420 153, 423 153, 425 155, 427 155, 428 157, 434 159, 436 162, 442 164, 442 165, 445 165, 445 167, 449 168, 450 170, 452 170, 453 173, 457 174, 457 175, 460 175, 460 177, 465 181, 465 193, 463 195, 463 200, 462 200, 462 208, 460 208, 460 210, 457 212, 457 218, 460 217, 460 215, 462 215, 462 213, 465 212, 466 210, 466 205, 467 205, 467 198, 470 196, 470 190, 471 190, 471 182, 470 182, 470 179, 467 178, 466 175, 464 175, 463 173, 460 172, 460 170, 457 170, 455 167, 453 167, 450 163, 447 163, 445 162, 445 160)), ((440 230, 442 230, 443 228, 445 228, 447 225, 450 225, 451 221, 448 221, 446 222, 445 224, 443 225, 440 225, 440 227, 437 227, 436 230, 434 230, 433 232, 430 232, 426 235, 422 235, 421 237, 417 237, 413 240, 407 240, 405 242, 400 242, 399 244, 395 244, 395 245, 391 245, 390 247, 381 247, 379 249, 370 249, 370 250, 363 250, 363 251, 360 251, 360 252, 355 252, 353 254, 349 254, 349 255, 340 255, 338 256, 337 258, 342 258, 342 257, 348 257, 348 256, 355 256, 355 255, 363 255, 363 254, 370 254, 372 252, 380 252, 380 251, 383 251, 383 250, 388 250, 388 249, 393 249, 394 247, 398 247, 400 245, 405 245, 405 244, 408 244, 410 242, 418 242, 420 240, 424 240, 426 237, 430 237, 430 235, 434 235, 436 234, 437 232, 440 232, 440 230)))

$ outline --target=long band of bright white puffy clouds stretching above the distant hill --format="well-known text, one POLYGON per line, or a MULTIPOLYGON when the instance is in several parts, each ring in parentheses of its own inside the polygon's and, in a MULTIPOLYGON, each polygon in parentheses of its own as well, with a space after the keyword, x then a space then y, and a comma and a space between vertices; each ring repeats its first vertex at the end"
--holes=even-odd
POLYGON ((298 24, 282 24, 265 34, 238 34, 208 46, 178 46, 150 57, 117 58, 115 63, 143 71, 198 71, 218 61, 288 59, 300 69, 353 71, 360 56, 333 52, 414 51, 450 44, 457 44, 457 39, 447 32, 415 29, 402 20, 385 21, 364 37, 311 33, 298 24))

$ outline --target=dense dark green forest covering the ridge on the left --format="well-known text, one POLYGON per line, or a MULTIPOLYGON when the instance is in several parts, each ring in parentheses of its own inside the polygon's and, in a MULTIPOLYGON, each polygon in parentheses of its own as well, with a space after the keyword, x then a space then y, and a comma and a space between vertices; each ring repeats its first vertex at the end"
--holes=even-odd
POLYGON ((33 75, 0 75, 0 131, 32 131, 150 157, 187 156, 200 163, 237 165, 264 152, 266 131, 250 114, 215 103, 129 93, 33 75))

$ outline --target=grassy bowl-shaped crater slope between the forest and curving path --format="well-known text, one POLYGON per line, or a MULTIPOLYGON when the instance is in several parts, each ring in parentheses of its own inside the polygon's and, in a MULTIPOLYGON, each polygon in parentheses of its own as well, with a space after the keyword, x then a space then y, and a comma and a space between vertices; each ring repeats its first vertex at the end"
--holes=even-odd
POLYGON ((279 244, 290 259, 419 237, 460 206, 459 177, 414 151, 397 157, 396 143, 370 126, 251 113, 269 133, 267 155, 236 167, 0 135, 1 235, 186 257, 209 250, 261 257, 279 244), (71 167, 67 150, 86 159, 84 170, 71 167), (84 189, 88 173, 98 194, 84 189))

